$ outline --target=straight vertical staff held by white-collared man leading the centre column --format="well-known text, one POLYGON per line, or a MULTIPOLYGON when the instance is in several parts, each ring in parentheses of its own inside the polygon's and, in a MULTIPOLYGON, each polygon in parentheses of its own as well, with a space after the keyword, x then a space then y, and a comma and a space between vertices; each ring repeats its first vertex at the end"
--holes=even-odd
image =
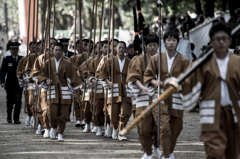
MULTIPOLYGON (((112 90, 111 90, 111 122, 112 122, 112 114, 113 114, 113 53, 114 53, 114 0, 112 0, 112 66, 111 66, 111 82, 112 82, 112 90)), ((119 86, 120 87, 120 86, 119 86)))

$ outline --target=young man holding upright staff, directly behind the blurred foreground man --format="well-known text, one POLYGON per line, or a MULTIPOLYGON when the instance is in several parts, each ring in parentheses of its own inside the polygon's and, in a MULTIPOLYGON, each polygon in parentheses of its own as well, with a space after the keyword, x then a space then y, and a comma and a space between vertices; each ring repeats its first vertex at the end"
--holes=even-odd
MULTIPOLYGON (((144 73, 144 83, 150 86, 158 87, 168 77, 178 77, 183 73, 189 60, 176 52, 179 42, 179 35, 174 31, 168 31, 163 37, 166 52, 161 53, 161 72, 160 81, 158 80, 158 58, 159 54, 153 56, 144 73)), ((158 88, 156 88, 158 90, 158 88)), ((161 89, 161 92, 164 90, 161 89)), ((160 92, 160 93, 161 93, 160 92)), ((151 92, 149 92, 151 93, 151 92)), ((158 96, 156 91, 153 98, 158 96)), ((157 111, 157 109, 155 110, 157 111)), ((156 112, 158 113, 158 112, 156 112)), ((160 144, 165 159, 174 158, 173 150, 183 128, 183 106, 179 93, 173 94, 167 98, 160 106, 160 144)))

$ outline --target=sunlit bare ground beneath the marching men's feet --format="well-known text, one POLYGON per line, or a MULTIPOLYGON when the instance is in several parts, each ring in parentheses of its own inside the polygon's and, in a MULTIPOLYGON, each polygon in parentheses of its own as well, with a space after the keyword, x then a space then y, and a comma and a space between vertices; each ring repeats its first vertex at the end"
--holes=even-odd
MULTIPOLYGON (((24 103, 24 101, 23 101, 24 103)), ((22 124, 6 122, 5 91, 0 89, 0 159, 32 158, 141 158, 141 145, 137 139, 136 127, 127 135, 128 141, 120 142, 109 138, 97 137, 93 133, 83 133, 74 126, 75 121, 67 123, 65 141, 44 139, 36 135, 32 127, 24 124, 26 116, 21 111, 22 124)), ((132 121, 132 118, 131 118, 132 121)), ((203 143, 199 140, 199 116, 196 113, 185 113, 184 129, 175 148, 176 159, 200 159, 205 157, 203 143)))

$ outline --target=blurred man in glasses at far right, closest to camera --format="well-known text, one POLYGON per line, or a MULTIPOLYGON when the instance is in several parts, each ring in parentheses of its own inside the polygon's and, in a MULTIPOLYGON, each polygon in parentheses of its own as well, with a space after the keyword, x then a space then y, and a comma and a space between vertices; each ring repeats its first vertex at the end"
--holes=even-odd
POLYGON ((207 159, 237 159, 240 155, 240 57, 229 50, 232 38, 228 24, 215 23, 209 37, 214 52, 182 83, 183 106, 190 111, 201 97, 200 138, 207 159))

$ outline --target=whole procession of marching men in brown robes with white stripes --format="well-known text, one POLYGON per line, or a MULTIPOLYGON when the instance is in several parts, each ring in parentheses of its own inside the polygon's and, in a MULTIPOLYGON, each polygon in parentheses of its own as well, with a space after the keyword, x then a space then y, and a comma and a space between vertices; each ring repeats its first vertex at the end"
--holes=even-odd
MULTIPOLYGON (((138 123, 139 140, 144 151, 142 159, 151 159, 153 155, 174 159, 174 147, 183 129, 183 110, 193 109, 200 95, 201 139, 207 158, 238 157, 239 57, 229 52, 231 29, 226 24, 213 25, 209 36, 214 55, 182 83, 183 95, 174 93, 161 102, 160 125, 157 108, 138 123), (226 73, 228 67, 232 73, 226 73), (158 148, 158 137, 162 153, 158 148)), ((41 41, 36 53, 31 49, 33 43, 30 43, 31 54, 19 61, 17 69, 20 85, 26 86, 26 125, 35 123, 33 116, 37 115, 37 134, 44 130, 44 138, 57 137, 64 141, 69 107, 73 103, 76 126, 85 125, 83 132, 92 131, 101 136, 105 125, 105 137, 127 140, 119 135, 119 131, 126 127, 132 112, 134 117, 138 117, 158 96, 158 86, 163 88, 160 89, 162 94, 165 89, 163 81, 175 81, 190 65, 189 60, 176 51, 179 35, 174 31, 163 36, 166 52, 160 54, 160 68, 157 54, 159 37, 148 34, 144 40, 145 52, 132 59, 124 55, 126 43, 117 39, 111 41, 114 49, 109 58, 106 56, 108 41, 93 44, 91 40, 83 39, 82 53, 68 58, 66 55, 71 53, 66 49, 67 40, 58 42, 51 38, 48 46, 50 59, 48 53, 37 55, 43 52, 41 41), (91 55, 89 47, 96 48, 91 55), (35 96, 36 91, 39 96, 35 96), (34 102, 39 104, 37 110, 32 107, 34 102)), ((76 47, 79 50, 79 41, 76 47)))

